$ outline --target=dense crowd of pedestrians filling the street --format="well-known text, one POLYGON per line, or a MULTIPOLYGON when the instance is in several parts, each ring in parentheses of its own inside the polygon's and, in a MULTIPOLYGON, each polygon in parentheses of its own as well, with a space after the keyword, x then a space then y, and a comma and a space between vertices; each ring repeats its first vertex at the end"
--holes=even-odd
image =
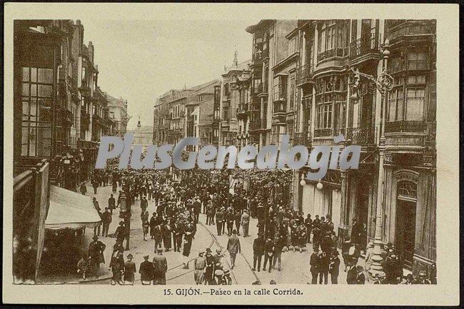
MULTIPOLYGON (((262 182, 261 182, 262 183, 262 182)), ((271 183, 272 184, 272 183, 271 183)), ((314 218, 301 211, 294 210, 288 199, 271 194, 269 183, 262 190, 246 189, 243 181, 233 181, 228 170, 219 173, 210 171, 190 170, 119 170, 115 162, 109 162, 106 170, 95 173, 91 181, 94 193, 99 186, 111 185, 112 193, 108 206, 101 212, 99 201, 94 198, 94 207, 101 215, 103 229, 94 228, 94 242, 89 245, 88 256, 79 261, 79 273, 86 278, 88 270, 93 268, 96 277, 99 275, 99 264, 105 263, 103 251, 106 246, 98 240, 103 237, 116 238, 109 268, 113 273, 112 284, 133 284, 136 265, 131 261, 133 256, 123 258, 123 240, 128 237, 128 218, 131 216, 131 206, 140 201, 143 240, 153 240, 153 261, 149 255, 139 267, 143 284, 166 284, 167 260, 163 251, 173 250, 183 255, 183 267, 188 269, 193 264, 193 274, 196 284, 231 284, 231 270, 236 266, 236 255, 241 253, 241 243, 238 236, 250 236, 251 218, 257 219, 258 235, 253 241, 253 271, 281 271, 282 254, 286 252, 303 253, 311 244, 309 268, 311 284, 338 284, 341 268, 341 258, 347 273, 346 283, 364 284, 369 280, 368 270, 372 265, 373 243, 365 250, 365 264, 358 265, 361 250, 365 248, 365 226, 353 221, 350 237, 341 241, 341 258, 339 257, 339 239, 331 215, 316 215, 314 218), (116 193, 118 196, 115 198, 116 193), (156 210, 148 213, 148 201, 156 210), (109 234, 112 213, 121 208, 122 219, 113 234, 109 234), (124 208, 124 211, 123 211, 124 208), (230 257, 230 270, 224 267, 224 256, 221 248, 216 254, 211 248, 206 248, 198 256, 191 258, 191 246, 195 239, 199 216, 206 216, 206 226, 216 226, 216 235, 227 235, 226 251, 230 257), (193 263, 190 263, 193 262, 193 263), (262 268, 261 268, 262 266, 262 268)), ((272 191, 273 192, 273 191, 272 191)), ((81 187, 81 193, 86 194, 86 187, 81 187)), ((423 275, 418 278, 408 276, 403 280, 403 263, 393 245, 383 248, 382 266, 385 277, 378 278, 374 283, 407 283, 425 282, 423 275)), ((430 281, 433 273, 430 275, 430 281)), ((436 279, 435 279, 436 280, 436 279)))

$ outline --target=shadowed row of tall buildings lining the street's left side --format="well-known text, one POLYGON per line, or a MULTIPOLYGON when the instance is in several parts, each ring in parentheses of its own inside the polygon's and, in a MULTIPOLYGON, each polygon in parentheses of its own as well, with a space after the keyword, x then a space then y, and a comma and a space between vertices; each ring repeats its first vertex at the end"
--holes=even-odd
POLYGON ((75 191, 94 166, 91 153, 80 151, 82 138, 91 143, 86 114, 98 74, 83 34, 80 21, 14 22, 15 282, 36 279, 50 185, 75 191))

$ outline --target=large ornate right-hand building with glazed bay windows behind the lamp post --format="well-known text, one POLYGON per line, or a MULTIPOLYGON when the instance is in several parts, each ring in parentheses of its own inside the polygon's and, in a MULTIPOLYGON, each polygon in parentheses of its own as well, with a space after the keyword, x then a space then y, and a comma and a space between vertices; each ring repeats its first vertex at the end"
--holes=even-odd
POLYGON ((357 170, 329 170, 320 181, 295 173, 294 207, 331 215, 340 240, 356 219, 364 245, 393 243, 405 267, 428 268, 436 248, 435 22, 298 21, 296 31, 295 143, 333 145, 343 134, 343 145, 362 151, 357 170), (375 83, 385 69, 391 87, 375 83))

